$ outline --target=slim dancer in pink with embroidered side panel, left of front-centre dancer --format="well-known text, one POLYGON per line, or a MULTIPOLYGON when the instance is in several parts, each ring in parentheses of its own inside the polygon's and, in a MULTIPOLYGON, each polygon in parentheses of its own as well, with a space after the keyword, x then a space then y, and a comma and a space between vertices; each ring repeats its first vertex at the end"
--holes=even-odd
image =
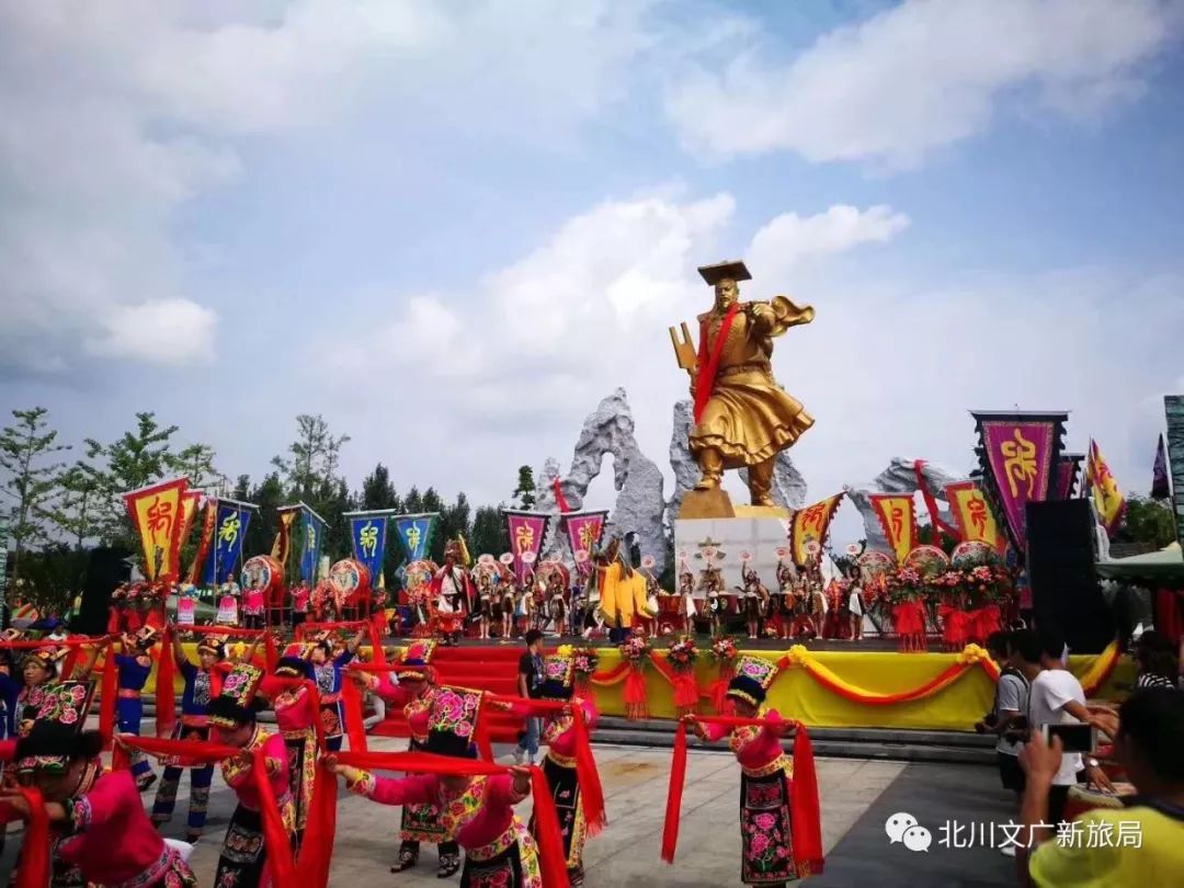
MULTIPOLYGON (((307 678, 313 681, 309 658, 311 644, 289 644, 276 663, 276 678, 307 678)), ((313 803, 313 783, 316 778, 316 721, 321 710, 308 686, 289 687, 264 678, 260 688, 271 701, 276 725, 288 753, 288 786, 295 810, 295 848, 298 850, 308 825, 309 805, 313 803)))

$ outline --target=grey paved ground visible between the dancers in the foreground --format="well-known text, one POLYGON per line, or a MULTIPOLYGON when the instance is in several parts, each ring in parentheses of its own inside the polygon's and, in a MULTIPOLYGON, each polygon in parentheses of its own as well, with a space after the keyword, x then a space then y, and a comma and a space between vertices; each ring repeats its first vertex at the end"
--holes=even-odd
MULTIPOLYGON (((400 740, 373 739, 373 747, 401 748, 400 740)), ((726 752, 693 751, 683 793, 683 821, 678 857, 674 867, 658 860, 665 805, 669 752, 628 747, 598 747, 610 824, 586 851, 590 888, 611 886, 669 886, 718 888, 739 886, 740 836, 736 824, 739 778, 735 760, 726 752)), ((905 766, 895 762, 821 759, 823 841, 828 873, 810 880, 851 886, 946 886, 1012 884, 1011 861, 997 851, 942 850, 937 847, 937 824, 967 817, 1006 821, 1008 799, 998 789, 993 771, 969 766, 905 766), (935 844, 928 854, 889 847, 884 821, 908 811, 929 825, 935 844)), ((182 781, 178 813, 167 835, 180 837, 187 805, 182 781)), ((150 802, 150 799, 146 799, 150 802)), ((206 838, 193 855, 201 884, 213 883, 218 850, 234 797, 214 784, 206 838)), ((529 802, 521 813, 529 815, 529 802)), ((343 797, 339 809, 339 832, 334 854, 333 884, 352 888, 426 888, 439 886, 436 858, 425 849, 417 870, 391 875, 395 855, 399 811, 365 799, 343 797)), ((0 874, 12 866, 19 836, 12 835, 0 874)), ((455 882, 453 882, 455 883, 455 882)))

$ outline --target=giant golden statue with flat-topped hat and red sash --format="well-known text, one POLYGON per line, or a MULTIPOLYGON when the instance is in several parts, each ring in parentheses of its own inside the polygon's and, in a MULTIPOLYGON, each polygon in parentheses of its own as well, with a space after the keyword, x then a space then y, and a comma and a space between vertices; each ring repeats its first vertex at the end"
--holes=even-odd
POLYGON ((772 507, 777 455, 813 425, 802 404, 777 385, 770 362, 773 339, 810 323, 813 309, 785 296, 740 302, 738 282, 752 279, 742 262, 704 265, 699 274, 715 288, 714 307, 699 316, 699 350, 686 323, 681 341, 670 328, 678 366, 690 374, 690 452, 702 472, 680 517, 731 517, 731 500, 720 488, 723 470, 747 466, 752 504, 772 507))

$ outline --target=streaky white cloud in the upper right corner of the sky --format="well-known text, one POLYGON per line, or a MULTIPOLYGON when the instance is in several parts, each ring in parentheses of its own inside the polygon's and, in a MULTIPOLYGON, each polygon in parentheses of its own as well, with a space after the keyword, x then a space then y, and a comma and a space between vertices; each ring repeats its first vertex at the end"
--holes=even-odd
POLYGON ((910 166, 982 133, 1017 92, 1072 116, 1138 95, 1175 24, 1158 0, 908 0, 789 64, 739 44, 673 82, 667 110, 687 146, 712 155, 910 166))

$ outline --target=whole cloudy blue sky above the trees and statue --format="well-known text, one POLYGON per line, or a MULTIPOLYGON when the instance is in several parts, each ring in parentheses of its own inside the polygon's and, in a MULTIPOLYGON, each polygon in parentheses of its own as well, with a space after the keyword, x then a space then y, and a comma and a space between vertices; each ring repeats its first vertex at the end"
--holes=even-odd
MULTIPOLYGON (((1064 407, 1145 491, 1184 390, 1180 5, 9 5, 0 404, 136 410, 260 475, 496 501, 630 393, 665 463, 695 265, 818 320, 776 367, 811 493, 967 468, 1064 407), (777 220, 777 221, 774 221, 777 220), (761 232, 758 234, 758 232, 761 232)), ((605 493, 607 496, 607 493, 605 493)))

